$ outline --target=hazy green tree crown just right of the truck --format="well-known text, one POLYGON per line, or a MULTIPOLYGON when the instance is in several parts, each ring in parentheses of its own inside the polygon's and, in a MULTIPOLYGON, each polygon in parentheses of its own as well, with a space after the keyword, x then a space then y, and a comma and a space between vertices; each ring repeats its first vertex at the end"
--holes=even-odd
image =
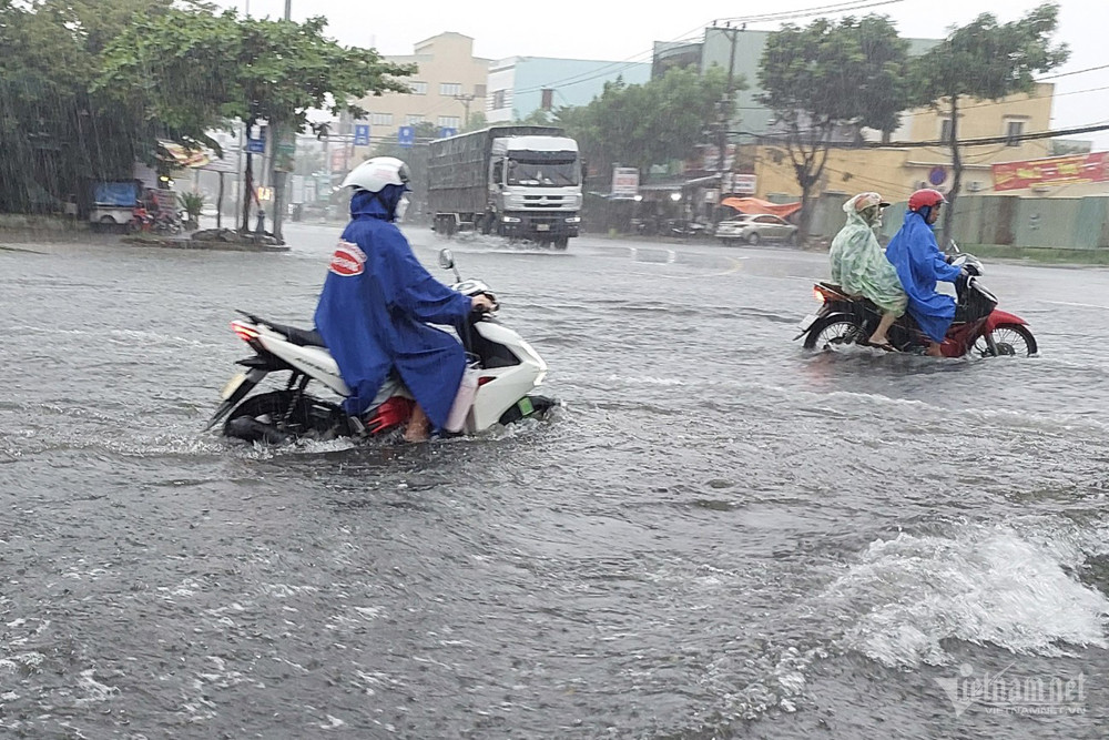
MULTIPOLYGON (((744 87, 742 79, 733 81, 733 90, 744 87)), ((618 79, 588 105, 558 109, 553 123, 578 140, 591 169, 607 175, 620 163, 645 174, 653 164, 696 152, 726 90, 728 77, 715 67, 704 74, 672 69, 644 84, 618 79)))

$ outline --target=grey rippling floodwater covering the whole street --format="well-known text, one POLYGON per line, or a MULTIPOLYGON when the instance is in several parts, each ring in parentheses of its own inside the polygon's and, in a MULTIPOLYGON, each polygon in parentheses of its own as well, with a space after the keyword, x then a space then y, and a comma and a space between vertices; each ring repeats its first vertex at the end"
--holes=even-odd
POLYGON ((0 734, 1103 737, 1109 273, 987 264, 1040 356, 930 361, 793 342, 818 254, 455 242, 553 418, 232 444, 287 236, 0 250, 0 734))

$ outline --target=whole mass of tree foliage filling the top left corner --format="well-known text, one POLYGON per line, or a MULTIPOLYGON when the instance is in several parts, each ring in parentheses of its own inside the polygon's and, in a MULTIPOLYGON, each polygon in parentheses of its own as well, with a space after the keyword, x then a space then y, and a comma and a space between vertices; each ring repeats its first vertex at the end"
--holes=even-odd
POLYGON ((0 0, 0 210, 130 178, 157 139, 218 151, 206 132, 234 118, 288 132, 309 108, 363 115, 358 99, 413 71, 323 30, 192 0, 0 0))

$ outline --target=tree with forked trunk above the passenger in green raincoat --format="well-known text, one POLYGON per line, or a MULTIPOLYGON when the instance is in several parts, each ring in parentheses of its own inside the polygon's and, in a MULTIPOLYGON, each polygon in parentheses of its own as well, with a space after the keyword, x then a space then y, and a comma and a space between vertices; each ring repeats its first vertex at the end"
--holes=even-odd
POLYGON ((802 232, 833 133, 843 126, 889 132, 908 107, 908 42, 882 16, 817 19, 770 34, 759 70, 761 97, 783 129, 783 145, 802 190, 802 232))

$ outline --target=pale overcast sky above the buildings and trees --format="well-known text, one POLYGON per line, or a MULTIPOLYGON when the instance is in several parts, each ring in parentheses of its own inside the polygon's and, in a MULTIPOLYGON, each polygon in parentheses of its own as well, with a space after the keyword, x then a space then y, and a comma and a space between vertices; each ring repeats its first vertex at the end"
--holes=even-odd
MULTIPOLYGON (((216 0, 251 16, 279 18, 285 0, 216 0)), ((834 2, 827 0, 779 0, 760 3, 772 10, 760 12, 734 0, 682 0, 664 3, 660 10, 645 10, 640 3, 601 0, 558 0, 536 3, 489 0, 419 0, 414 3, 367 2, 366 0, 292 0, 294 20, 326 16, 329 34, 338 41, 374 47, 383 54, 410 54, 413 45, 444 31, 474 38, 477 57, 560 57, 611 61, 651 60, 655 41, 699 37, 700 29, 713 20, 735 19, 741 14, 749 29, 776 30, 782 21, 756 21, 755 14, 796 11, 793 22, 805 24, 818 16, 841 17, 876 12, 889 16, 903 37, 943 38, 952 26, 962 26, 979 13, 994 12, 1001 22, 1016 20, 1039 4, 1026 0, 881 0, 834 2), (863 6, 869 6, 863 8, 863 6), (828 12, 833 8, 855 8, 848 12, 828 12)), ((653 4, 653 3, 648 3, 653 4)), ((1109 65, 1109 2, 1106 0, 1064 0, 1057 41, 1070 47, 1070 61, 1055 72, 1078 72, 1109 65)), ((660 8, 660 6, 655 6, 660 8)), ((1109 67, 1052 80, 1056 100, 1054 129, 1092 123, 1109 124, 1109 67)), ((1109 131, 1083 134, 1096 149, 1109 149, 1109 131)))

